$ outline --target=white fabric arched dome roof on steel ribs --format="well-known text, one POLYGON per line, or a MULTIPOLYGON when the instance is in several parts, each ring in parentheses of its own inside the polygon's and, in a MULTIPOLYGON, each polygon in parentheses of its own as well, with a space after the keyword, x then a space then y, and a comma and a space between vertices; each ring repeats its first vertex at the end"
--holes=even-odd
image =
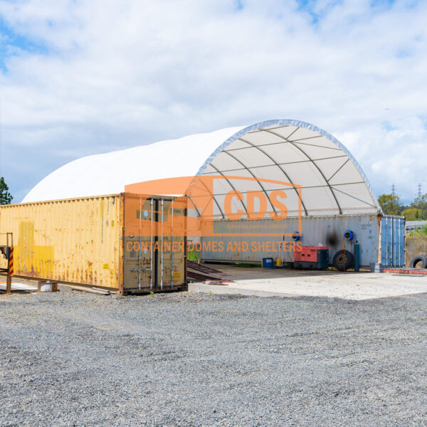
MULTIPOLYGON (((83 157, 46 176, 22 202, 118 194, 135 182, 218 174, 297 184, 302 187, 303 215, 381 211, 367 177, 346 147, 324 130, 297 120, 267 120, 83 157)), ((277 184, 255 180, 238 184, 223 180, 220 187, 214 191, 216 205, 231 189, 267 195, 279 189, 277 184)), ((296 215, 297 191, 283 189, 289 215, 296 215)), ((219 210, 214 214, 221 217, 219 210)))

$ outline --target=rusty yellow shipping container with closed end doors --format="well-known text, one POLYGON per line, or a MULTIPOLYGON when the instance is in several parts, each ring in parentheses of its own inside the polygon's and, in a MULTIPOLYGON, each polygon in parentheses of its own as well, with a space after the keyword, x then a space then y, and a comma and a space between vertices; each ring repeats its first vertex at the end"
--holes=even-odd
POLYGON ((13 233, 14 275, 122 294, 171 290, 186 286, 184 214, 182 202, 162 196, 41 201, 0 206, 0 232, 13 233))

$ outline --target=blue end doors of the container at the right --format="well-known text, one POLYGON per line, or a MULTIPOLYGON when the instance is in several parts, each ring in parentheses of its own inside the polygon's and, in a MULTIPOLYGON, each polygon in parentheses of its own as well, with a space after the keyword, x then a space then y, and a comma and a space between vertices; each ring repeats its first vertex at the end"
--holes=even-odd
POLYGON ((384 215, 381 218, 381 264, 383 267, 405 265, 405 218, 384 215))

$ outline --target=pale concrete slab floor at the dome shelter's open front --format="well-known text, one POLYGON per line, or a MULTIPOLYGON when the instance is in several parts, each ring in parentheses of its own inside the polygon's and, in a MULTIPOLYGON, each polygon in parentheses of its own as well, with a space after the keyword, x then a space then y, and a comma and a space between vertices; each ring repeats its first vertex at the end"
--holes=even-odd
POLYGON ((233 275, 233 283, 219 286, 191 283, 189 291, 258 297, 332 297, 344 300, 370 300, 427 292, 427 277, 418 275, 408 277, 391 273, 242 268, 234 265, 216 265, 214 268, 233 275))

